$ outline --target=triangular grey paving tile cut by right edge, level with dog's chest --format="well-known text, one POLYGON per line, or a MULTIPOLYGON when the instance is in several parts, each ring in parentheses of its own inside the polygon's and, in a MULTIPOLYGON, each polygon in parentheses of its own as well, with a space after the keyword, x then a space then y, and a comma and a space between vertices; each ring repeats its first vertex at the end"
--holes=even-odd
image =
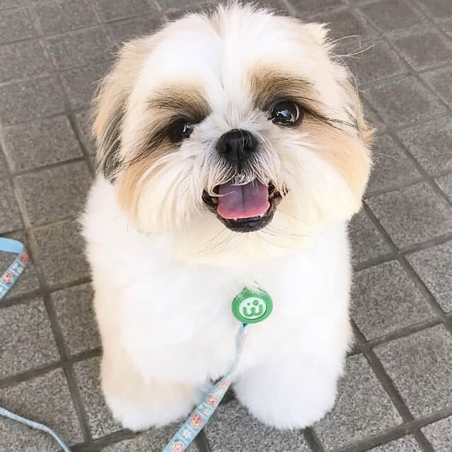
POLYGON ((452 241, 407 256, 445 311, 452 311, 452 241))

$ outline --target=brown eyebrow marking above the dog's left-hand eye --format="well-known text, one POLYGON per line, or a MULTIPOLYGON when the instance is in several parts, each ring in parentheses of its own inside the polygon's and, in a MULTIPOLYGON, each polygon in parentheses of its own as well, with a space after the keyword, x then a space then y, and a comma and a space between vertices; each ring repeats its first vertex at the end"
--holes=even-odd
POLYGON ((204 91, 191 85, 160 88, 149 98, 148 106, 168 115, 186 117, 194 123, 201 122, 211 113, 204 91))

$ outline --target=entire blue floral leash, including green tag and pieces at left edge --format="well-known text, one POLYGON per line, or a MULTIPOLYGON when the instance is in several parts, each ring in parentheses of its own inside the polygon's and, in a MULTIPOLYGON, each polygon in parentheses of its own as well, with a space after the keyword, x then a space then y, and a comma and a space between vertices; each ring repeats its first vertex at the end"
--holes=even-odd
MULTIPOLYGON (((24 250, 23 243, 12 240, 10 238, 0 237, 0 252, 16 254, 16 258, 11 262, 8 269, 1 275, 0 279, 0 302, 4 299, 13 284, 16 283, 18 277, 21 276, 28 264, 29 257, 24 250)), ((272 313, 273 304, 270 295, 267 292, 252 291, 243 289, 240 294, 233 299, 232 312, 234 317, 241 322, 241 328, 238 332, 236 340, 236 356, 234 358, 231 369, 226 375, 215 384, 211 390, 204 394, 202 401, 197 405, 192 414, 182 424, 182 427, 176 432, 170 442, 166 445, 162 452, 183 452, 187 449, 196 438, 199 431, 204 429, 209 419, 214 414, 221 400, 224 398, 226 391, 232 383, 233 374, 236 372, 238 361, 240 359, 243 343, 245 342, 246 333, 248 332, 249 323, 258 323, 265 320, 272 313)), ((52 429, 44 424, 35 422, 25 417, 16 415, 15 413, 0 407, 0 416, 13 419, 28 425, 33 429, 45 431, 50 434, 55 441, 61 446, 64 452, 71 452, 69 446, 55 433, 52 429)))

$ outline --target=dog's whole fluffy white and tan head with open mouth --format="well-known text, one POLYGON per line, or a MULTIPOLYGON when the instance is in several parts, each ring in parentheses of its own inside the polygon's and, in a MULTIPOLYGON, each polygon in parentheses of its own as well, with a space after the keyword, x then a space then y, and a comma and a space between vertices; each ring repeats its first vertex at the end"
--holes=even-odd
POLYGON ((371 132, 325 34, 231 6, 125 44, 94 132, 129 221, 169 233, 185 255, 227 259, 298 248, 349 219, 371 132))

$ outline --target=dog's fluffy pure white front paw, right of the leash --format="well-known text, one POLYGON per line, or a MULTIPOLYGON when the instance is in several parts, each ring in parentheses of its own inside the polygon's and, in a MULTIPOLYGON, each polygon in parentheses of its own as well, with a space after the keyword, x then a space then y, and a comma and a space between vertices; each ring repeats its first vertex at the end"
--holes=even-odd
POLYGON ((234 389, 238 400, 265 424, 303 428, 332 408, 340 373, 340 365, 286 357, 245 371, 234 389))

